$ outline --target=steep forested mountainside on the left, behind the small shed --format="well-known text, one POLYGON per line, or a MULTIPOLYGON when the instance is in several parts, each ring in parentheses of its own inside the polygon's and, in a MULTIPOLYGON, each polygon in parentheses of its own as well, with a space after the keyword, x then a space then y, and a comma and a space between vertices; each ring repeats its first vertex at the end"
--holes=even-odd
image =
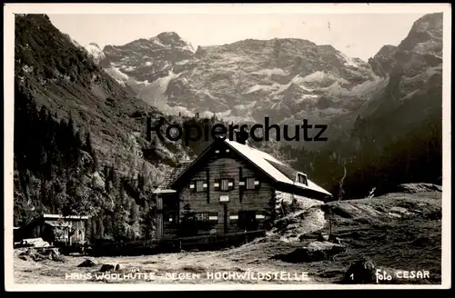
MULTIPOLYGON (((147 141, 136 98, 47 15, 15 15, 14 224, 39 214, 85 214, 87 239, 149 239, 151 192, 191 154, 147 141)), ((184 121, 166 117, 167 124, 184 121)))

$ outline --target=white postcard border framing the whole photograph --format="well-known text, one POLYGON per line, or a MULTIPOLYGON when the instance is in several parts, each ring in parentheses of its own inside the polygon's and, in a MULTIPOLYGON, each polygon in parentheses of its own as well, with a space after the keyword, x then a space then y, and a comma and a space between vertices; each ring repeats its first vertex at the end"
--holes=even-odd
POLYGON ((4 185, 5 185, 5 290, 6 291, 200 291, 200 290, 329 290, 329 289, 448 289, 450 276, 450 4, 220 4, 220 5, 128 5, 128 4, 6 4, 4 5, 4 185), (411 14, 443 13, 443 176, 442 260, 440 285, 337 285, 337 284, 21 284, 13 274, 13 123, 14 123, 14 14, 411 14))

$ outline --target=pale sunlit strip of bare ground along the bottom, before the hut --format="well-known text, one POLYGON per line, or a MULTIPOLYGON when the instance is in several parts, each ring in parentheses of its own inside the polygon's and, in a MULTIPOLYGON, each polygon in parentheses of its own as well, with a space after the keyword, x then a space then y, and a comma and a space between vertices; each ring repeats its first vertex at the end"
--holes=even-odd
POLYGON ((222 252, 99 257, 91 258, 97 263, 96 267, 77 267, 85 259, 82 256, 69 256, 65 262, 35 263, 15 257, 15 283, 319 283, 310 276, 302 275, 303 272, 297 267, 257 263, 255 260, 244 263, 232 260, 222 252), (97 280, 96 275, 100 277, 102 274, 97 272, 102 263, 120 264, 121 270, 116 272, 119 275, 116 280, 106 279, 106 275, 102 280, 97 280), (230 275, 219 275, 223 272, 230 275), (263 274, 264 280, 257 280, 261 278, 258 273, 263 274), (123 280, 120 279, 122 277, 123 280))

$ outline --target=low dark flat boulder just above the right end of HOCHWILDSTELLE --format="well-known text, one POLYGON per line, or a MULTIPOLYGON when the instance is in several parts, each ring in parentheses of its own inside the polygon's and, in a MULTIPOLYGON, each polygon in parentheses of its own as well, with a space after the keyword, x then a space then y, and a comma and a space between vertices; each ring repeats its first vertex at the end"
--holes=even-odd
POLYGON ((288 263, 309 263, 331 260, 334 255, 344 251, 345 247, 343 245, 327 241, 315 241, 290 253, 278 254, 274 258, 288 263))

